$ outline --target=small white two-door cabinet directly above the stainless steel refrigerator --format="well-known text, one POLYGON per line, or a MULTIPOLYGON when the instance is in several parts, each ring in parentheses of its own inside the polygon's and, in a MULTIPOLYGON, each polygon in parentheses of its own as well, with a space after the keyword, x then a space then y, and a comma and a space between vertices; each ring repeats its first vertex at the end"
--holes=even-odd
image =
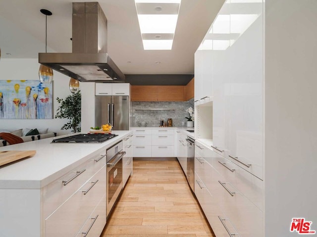
POLYGON ((130 95, 130 83, 96 83, 95 95, 130 95))

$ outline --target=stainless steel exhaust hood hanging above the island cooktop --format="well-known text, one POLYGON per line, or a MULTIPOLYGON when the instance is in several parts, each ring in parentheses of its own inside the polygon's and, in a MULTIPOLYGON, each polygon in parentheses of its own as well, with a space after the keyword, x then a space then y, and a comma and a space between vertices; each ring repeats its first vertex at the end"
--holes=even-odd
POLYGON ((98 2, 73 2, 72 53, 39 53, 39 63, 83 82, 125 82, 107 54, 107 19, 98 2))

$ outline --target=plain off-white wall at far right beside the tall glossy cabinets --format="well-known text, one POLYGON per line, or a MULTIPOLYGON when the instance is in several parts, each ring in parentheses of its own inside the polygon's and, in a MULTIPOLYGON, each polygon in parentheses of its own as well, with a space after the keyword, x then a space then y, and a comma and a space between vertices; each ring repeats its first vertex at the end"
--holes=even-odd
POLYGON ((265 237, 317 231, 316 24, 317 0, 265 1, 265 237))

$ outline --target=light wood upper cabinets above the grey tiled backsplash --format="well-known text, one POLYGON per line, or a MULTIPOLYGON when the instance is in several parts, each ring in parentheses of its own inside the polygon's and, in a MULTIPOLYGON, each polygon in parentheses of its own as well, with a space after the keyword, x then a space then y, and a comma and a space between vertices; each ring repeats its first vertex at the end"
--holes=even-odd
POLYGON ((131 101, 187 101, 194 98, 194 79, 184 85, 132 85, 131 101))

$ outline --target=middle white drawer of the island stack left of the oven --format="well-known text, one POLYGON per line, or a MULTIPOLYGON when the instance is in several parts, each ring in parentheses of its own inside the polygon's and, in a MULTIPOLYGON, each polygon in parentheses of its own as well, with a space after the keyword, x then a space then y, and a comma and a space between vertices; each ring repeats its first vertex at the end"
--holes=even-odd
POLYGON ((106 165, 45 219, 45 236, 75 236, 105 194, 106 165))

